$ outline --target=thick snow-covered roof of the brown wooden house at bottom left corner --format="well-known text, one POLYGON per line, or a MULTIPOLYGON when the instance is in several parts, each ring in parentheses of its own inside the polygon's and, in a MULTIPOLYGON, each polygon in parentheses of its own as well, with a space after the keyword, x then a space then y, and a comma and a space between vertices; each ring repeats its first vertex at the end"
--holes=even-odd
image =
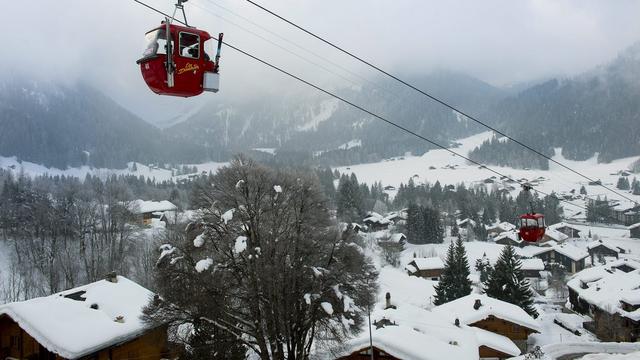
POLYGON ((118 276, 116 283, 100 280, 54 295, 0 305, 0 315, 8 315, 49 351, 77 359, 147 331, 140 315, 152 296, 149 290, 118 276))

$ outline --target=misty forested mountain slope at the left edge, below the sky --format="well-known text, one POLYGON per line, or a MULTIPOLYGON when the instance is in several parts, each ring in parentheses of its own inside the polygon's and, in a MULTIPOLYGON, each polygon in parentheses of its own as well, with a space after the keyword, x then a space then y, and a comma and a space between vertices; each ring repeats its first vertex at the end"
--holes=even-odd
POLYGON ((88 85, 25 78, 0 82, 0 155, 59 168, 204 160, 88 85))

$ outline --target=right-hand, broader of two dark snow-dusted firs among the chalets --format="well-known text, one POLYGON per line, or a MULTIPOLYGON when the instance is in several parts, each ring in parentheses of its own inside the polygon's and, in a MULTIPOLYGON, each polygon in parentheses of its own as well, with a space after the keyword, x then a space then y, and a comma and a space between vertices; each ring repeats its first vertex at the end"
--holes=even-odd
POLYGON ((485 292, 492 298, 517 305, 529 315, 537 317, 538 312, 533 307, 533 292, 521 266, 513 246, 505 246, 484 283, 485 292))

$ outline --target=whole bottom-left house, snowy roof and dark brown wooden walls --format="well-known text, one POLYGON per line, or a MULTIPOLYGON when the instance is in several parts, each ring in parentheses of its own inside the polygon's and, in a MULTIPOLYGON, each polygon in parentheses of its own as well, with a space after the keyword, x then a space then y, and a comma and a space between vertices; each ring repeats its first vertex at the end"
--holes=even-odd
POLYGON ((166 326, 149 327, 153 293, 115 274, 75 289, 0 305, 0 359, 160 359, 166 326))

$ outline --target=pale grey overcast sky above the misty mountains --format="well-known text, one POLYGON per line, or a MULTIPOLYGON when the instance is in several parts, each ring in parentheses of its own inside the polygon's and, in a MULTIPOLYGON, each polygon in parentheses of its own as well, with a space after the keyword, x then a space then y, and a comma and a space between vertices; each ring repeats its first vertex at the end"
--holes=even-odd
MULTIPOLYGON (((446 69, 494 85, 576 75, 640 41, 635 0, 256 1, 392 72, 446 69)), ((145 2, 172 10, 171 1, 145 2)), ((323 85, 358 84, 374 74, 245 1, 190 0, 185 6, 192 25, 224 32, 229 43, 323 85)), ((83 79, 151 122, 202 101, 299 86, 223 48, 221 94, 160 97, 147 89, 135 64, 158 14, 132 0, 14 1, 4 10, 0 76, 83 79)))

